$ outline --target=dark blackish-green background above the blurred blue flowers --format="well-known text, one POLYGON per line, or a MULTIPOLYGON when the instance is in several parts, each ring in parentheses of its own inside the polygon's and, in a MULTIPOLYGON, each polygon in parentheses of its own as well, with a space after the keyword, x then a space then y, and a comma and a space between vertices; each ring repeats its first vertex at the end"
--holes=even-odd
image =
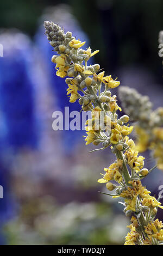
POLYGON ((117 66, 145 65, 161 81, 158 57, 158 33, 163 27, 161 0, 70 0, 70 1, 4 1, 0 3, 2 28, 15 27, 34 36, 37 22, 49 5, 68 3, 101 65, 114 71, 117 66))

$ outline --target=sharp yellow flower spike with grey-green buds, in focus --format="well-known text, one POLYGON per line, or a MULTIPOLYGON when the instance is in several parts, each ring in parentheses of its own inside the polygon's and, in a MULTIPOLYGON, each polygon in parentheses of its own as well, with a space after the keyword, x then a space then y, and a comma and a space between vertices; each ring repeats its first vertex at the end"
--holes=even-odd
MULTIPOLYGON (((71 94, 70 102, 78 100, 82 111, 92 113, 92 118, 85 124, 86 144, 102 143, 101 149, 110 146, 112 153, 116 155, 117 160, 108 168, 104 168, 103 178, 98 182, 105 183, 109 191, 115 190, 115 194, 109 195, 123 198, 126 216, 132 215, 131 232, 127 235, 125 244, 147 244, 150 237, 146 229, 154 222, 158 207, 162 206, 141 184, 141 179, 151 170, 143 168, 144 157, 139 156, 134 141, 128 137, 133 130, 133 126, 127 124, 129 117, 123 115, 118 118, 116 113, 121 111, 121 108, 117 105, 116 95, 111 96, 110 89, 119 86, 120 82, 113 80, 111 75, 105 76, 98 64, 87 65, 87 61, 98 51, 92 52, 90 47, 83 50, 81 47, 85 42, 73 38, 71 32, 65 34, 53 22, 45 22, 44 26, 48 40, 58 54, 52 57, 57 75, 68 76, 66 83, 67 95, 71 94), (102 118, 102 125, 99 117, 102 118)), ((150 109, 148 99, 144 101, 146 103, 142 106, 150 109)), ((160 237, 157 234, 152 237, 152 244, 160 244, 160 237)))

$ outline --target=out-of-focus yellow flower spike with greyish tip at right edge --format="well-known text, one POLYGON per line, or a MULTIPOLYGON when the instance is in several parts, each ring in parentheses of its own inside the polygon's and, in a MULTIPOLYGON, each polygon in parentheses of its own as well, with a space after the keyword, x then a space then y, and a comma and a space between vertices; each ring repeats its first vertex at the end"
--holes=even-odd
POLYGON ((119 95, 124 111, 136 122, 136 149, 139 152, 151 149, 158 168, 163 170, 163 108, 152 111, 148 97, 129 87, 121 87, 119 95))

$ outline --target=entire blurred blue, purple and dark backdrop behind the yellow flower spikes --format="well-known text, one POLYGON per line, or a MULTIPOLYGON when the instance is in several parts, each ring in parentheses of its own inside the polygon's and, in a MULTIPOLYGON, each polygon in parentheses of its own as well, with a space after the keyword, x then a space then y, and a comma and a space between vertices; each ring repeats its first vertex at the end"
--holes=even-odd
MULTIPOLYGON (((87 154, 94 147, 85 146, 84 131, 52 130, 55 110, 80 107, 68 101, 65 81, 55 75, 43 21, 100 50, 93 62, 148 95, 156 108, 163 93, 162 11, 161 0, 0 2, 2 245, 123 244, 129 219, 117 200, 98 193, 99 173, 114 161, 109 149, 87 154)), ((149 152, 143 155, 152 167, 149 152)), ((163 173, 156 169, 145 184, 158 196, 163 173)))

